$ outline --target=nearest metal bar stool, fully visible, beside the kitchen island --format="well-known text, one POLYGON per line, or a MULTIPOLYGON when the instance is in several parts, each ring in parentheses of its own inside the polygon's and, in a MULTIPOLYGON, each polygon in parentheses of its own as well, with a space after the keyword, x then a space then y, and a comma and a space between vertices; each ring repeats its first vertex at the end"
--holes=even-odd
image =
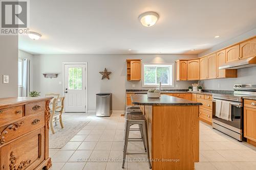
POLYGON ((129 140, 129 132, 130 132, 130 127, 131 125, 139 125, 142 127, 142 132, 143 132, 143 141, 144 144, 146 145, 146 154, 148 158, 148 164, 151 167, 151 162, 150 162, 150 153, 149 153, 149 147, 148 147, 148 137, 147 137, 147 126, 146 126, 146 118, 143 114, 128 114, 127 119, 125 120, 125 137, 124 137, 124 145, 123 145, 123 164, 122 168, 124 168, 124 163, 125 163, 125 157, 126 154, 141 154, 141 153, 127 153, 127 144, 129 140))

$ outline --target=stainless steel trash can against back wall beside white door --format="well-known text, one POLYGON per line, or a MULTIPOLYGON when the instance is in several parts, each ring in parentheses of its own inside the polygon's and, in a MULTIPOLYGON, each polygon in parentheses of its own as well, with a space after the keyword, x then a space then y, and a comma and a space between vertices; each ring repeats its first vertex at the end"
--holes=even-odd
POLYGON ((96 94, 96 116, 110 116, 112 114, 112 93, 96 94))

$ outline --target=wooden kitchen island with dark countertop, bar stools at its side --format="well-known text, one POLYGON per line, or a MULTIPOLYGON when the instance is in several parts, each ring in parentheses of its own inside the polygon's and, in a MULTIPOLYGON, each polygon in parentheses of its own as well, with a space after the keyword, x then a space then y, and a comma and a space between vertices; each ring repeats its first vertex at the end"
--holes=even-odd
POLYGON ((133 94, 147 119, 152 169, 194 169, 199 162, 199 105, 161 94, 159 99, 133 94))

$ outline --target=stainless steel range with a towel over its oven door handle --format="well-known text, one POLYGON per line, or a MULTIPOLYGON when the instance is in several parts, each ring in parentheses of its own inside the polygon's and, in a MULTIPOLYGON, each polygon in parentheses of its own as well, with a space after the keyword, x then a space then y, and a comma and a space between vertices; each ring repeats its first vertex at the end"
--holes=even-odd
POLYGON ((256 84, 235 84, 233 94, 212 94, 212 128, 239 141, 243 140, 243 97, 256 96, 256 84), (231 105, 231 121, 216 116, 216 101, 231 105))

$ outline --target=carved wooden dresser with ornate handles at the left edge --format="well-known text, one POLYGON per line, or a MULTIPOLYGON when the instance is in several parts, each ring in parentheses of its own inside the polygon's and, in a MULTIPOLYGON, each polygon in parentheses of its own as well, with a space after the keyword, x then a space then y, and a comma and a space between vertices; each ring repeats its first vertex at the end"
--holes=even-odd
POLYGON ((49 169, 52 98, 0 99, 0 170, 49 169))

